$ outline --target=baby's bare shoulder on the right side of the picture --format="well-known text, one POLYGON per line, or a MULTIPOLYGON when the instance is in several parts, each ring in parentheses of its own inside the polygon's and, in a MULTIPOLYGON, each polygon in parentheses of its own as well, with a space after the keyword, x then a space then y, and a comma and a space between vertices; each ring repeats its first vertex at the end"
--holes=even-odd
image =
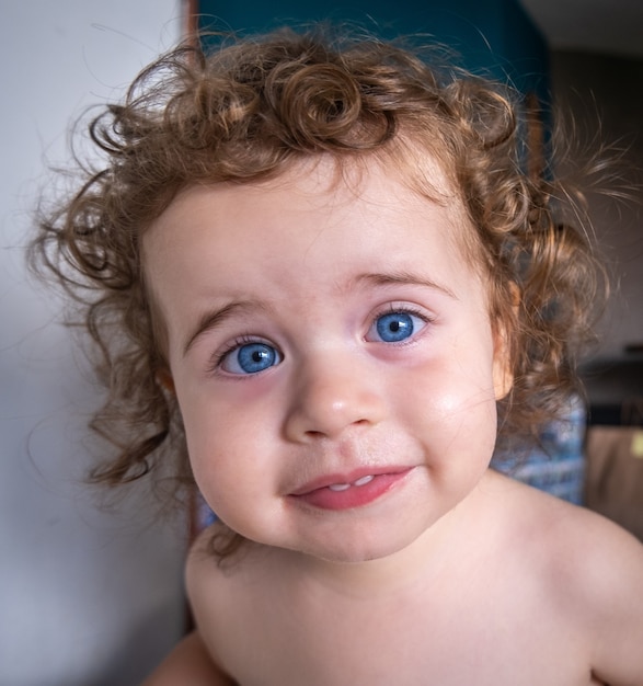
POLYGON ((552 607, 587 642, 593 674, 643 685, 643 545, 601 515, 501 478, 514 524, 552 607))

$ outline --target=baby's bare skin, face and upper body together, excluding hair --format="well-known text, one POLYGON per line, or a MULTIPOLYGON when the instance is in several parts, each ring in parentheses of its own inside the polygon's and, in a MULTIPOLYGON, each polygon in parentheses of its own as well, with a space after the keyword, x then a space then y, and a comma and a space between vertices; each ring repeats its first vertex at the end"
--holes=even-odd
POLYGON ((489 469, 505 335, 429 167, 444 203, 320 158, 145 236, 195 478, 252 541, 197 541, 148 684, 643 684, 641 546, 489 469))

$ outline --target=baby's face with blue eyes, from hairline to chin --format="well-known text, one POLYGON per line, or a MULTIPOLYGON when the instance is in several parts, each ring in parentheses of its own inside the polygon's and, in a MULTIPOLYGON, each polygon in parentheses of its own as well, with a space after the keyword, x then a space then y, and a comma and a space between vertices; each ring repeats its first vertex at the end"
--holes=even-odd
POLYGON ((507 375, 458 202, 375 163, 345 178, 322 160, 190 188, 143 254, 213 510, 250 539, 359 561, 475 489, 507 375))

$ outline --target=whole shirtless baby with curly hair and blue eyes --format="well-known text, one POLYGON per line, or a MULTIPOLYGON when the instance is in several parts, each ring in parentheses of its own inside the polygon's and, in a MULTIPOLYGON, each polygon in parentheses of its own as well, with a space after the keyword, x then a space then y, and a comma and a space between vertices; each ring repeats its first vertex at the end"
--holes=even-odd
POLYGON ((104 354, 94 478, 187 473, 218 519, 149 686, 643 684, 643 547, 490 469, 569 397, 597 283, 517 107, 277 32, 93 123, 36 248, 104 354))

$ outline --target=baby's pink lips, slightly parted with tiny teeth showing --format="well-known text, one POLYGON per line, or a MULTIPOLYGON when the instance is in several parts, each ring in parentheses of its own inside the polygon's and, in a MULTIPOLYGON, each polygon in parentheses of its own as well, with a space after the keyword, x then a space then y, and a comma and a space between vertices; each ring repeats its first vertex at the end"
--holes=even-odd
POLYGON ((321 510, 363 507, 381 498, 412 471, 412 467, 358 470, 315 479, 289 494, 296 501, 321 510))

